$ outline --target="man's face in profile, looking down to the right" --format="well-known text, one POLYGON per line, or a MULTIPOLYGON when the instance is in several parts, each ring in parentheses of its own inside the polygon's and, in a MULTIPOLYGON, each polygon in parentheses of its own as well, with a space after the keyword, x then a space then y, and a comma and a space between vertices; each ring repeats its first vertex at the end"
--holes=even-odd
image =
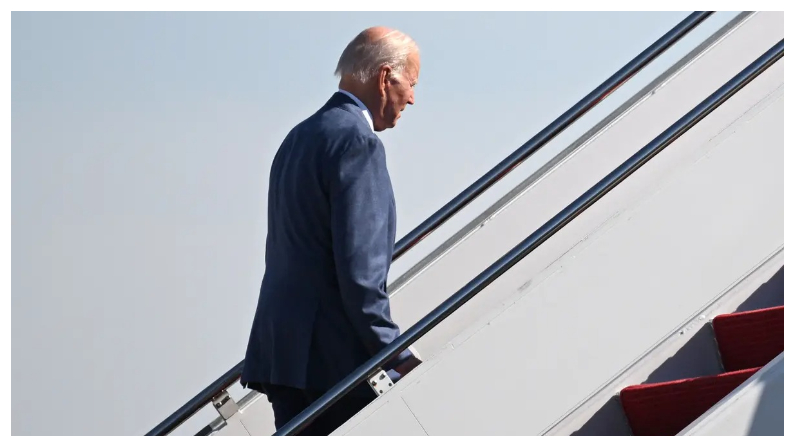
POLYGON ((382 75, 382 110, 374 120, 377 131, 391 129, 397 125, 400 113, 408 104, 414 104, 414 86, 420 76, 420 60, 416 55, 409 57, 402 74, 382 75))

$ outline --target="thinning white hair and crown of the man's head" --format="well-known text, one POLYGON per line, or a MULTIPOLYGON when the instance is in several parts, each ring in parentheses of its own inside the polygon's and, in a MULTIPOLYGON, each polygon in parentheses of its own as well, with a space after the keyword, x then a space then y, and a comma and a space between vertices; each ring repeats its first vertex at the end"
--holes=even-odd
POLYGON ((382 66, 388 65, 399 75, 406 68, 407 59, 412 53, 419 53, 417 44, 400 31, 390 31, 375 41, 368 39, 362 32, 345 47, 334 74, 351 76, 364 83, 378 74, 382 66))

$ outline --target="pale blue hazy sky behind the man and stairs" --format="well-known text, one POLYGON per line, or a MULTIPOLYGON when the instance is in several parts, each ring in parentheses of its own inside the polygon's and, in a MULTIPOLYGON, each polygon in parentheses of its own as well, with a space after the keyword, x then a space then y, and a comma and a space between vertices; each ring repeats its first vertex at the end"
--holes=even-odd
POLYGON ((381 134, 400 237, 688 13, 13 14, 12 433, 143 434, 242 359, 270 161, 360 30, 399 28, 422 51, 416 105, 381 134))

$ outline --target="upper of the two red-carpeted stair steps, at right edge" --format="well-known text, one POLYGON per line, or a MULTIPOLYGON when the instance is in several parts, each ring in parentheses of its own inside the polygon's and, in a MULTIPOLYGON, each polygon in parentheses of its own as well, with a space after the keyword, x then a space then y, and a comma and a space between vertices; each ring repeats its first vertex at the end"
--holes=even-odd
POLYGON ((712 327, 726 371, 765 366, 784 352, 784 306, 719 315, 712 327))

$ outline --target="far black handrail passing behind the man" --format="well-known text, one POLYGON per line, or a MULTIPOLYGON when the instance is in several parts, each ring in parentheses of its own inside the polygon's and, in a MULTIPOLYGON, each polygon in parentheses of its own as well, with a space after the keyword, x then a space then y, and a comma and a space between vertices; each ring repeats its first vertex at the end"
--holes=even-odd
MULTIPOLYGON (((672 45, 676 44, 690 31, 696 28, 701 22, 706 20, 714 11, 696 11, 688 15, 684 20, 679 22, 670 31, 665 33, 662 37, 657 39, 648 48, 643 50, 638 56, 629 61, 626 65, 621 67, 615 74, 609 77, 601 85, 596 87, 591 93, 581 99, 577 104, 572 106, 563 115, 559 116, 555 121, 550 123, 547 127, 537 133, 527 143, 523 144, 519 149, 514 151, 511 155, 501 161, 498 165, 492 168, 489 172, 484 174, 475 183, 470 185, 467 189, 462 191, 453 200, 444 205, 439 211, 435 212, 431 217, 422 222, 417 228, 412 230, 409 234, 401 238, 395 244, 394 254, 392 261, 397 260, 400 256, 406 253, 409 249, 417 245, 425 237, 427 237, 434 230, 439 228, 442 224, 447 222, 451 217, 458 213, 462 208, 470 202, 479 197, 483 192, 489 189, 492 185, 497 183, 501 178, 511 172, 514 168, 519 166, 528 157, 538 152, 539 149, 544 147, 550 140, 555 138, 558 134, 566 130, 571 124, 577 121, 582 115, 593 109, 597 104, 602 102, 613 91, 619 88, 622 84, 631 79, 640 70, 654 61, 660 54, 665 52, 672 45)), ((213 384, 202 390, 193 399, 188 401, 185 405, 175 411, 171 416, 166 418, 163 422, 153 428, 147 436, 163 436, 171 433, 179 427, 188 418, 196 414, 204 405, 210 402, 213 397, 218 395, 226 387, 235 383, 240 378, 243 371, 243 362, 238 363, 234 368, 230 369, 223 376, 218 378, 213 384), (227 384, 224 388, 213 387, 216 384, 227 384)))

